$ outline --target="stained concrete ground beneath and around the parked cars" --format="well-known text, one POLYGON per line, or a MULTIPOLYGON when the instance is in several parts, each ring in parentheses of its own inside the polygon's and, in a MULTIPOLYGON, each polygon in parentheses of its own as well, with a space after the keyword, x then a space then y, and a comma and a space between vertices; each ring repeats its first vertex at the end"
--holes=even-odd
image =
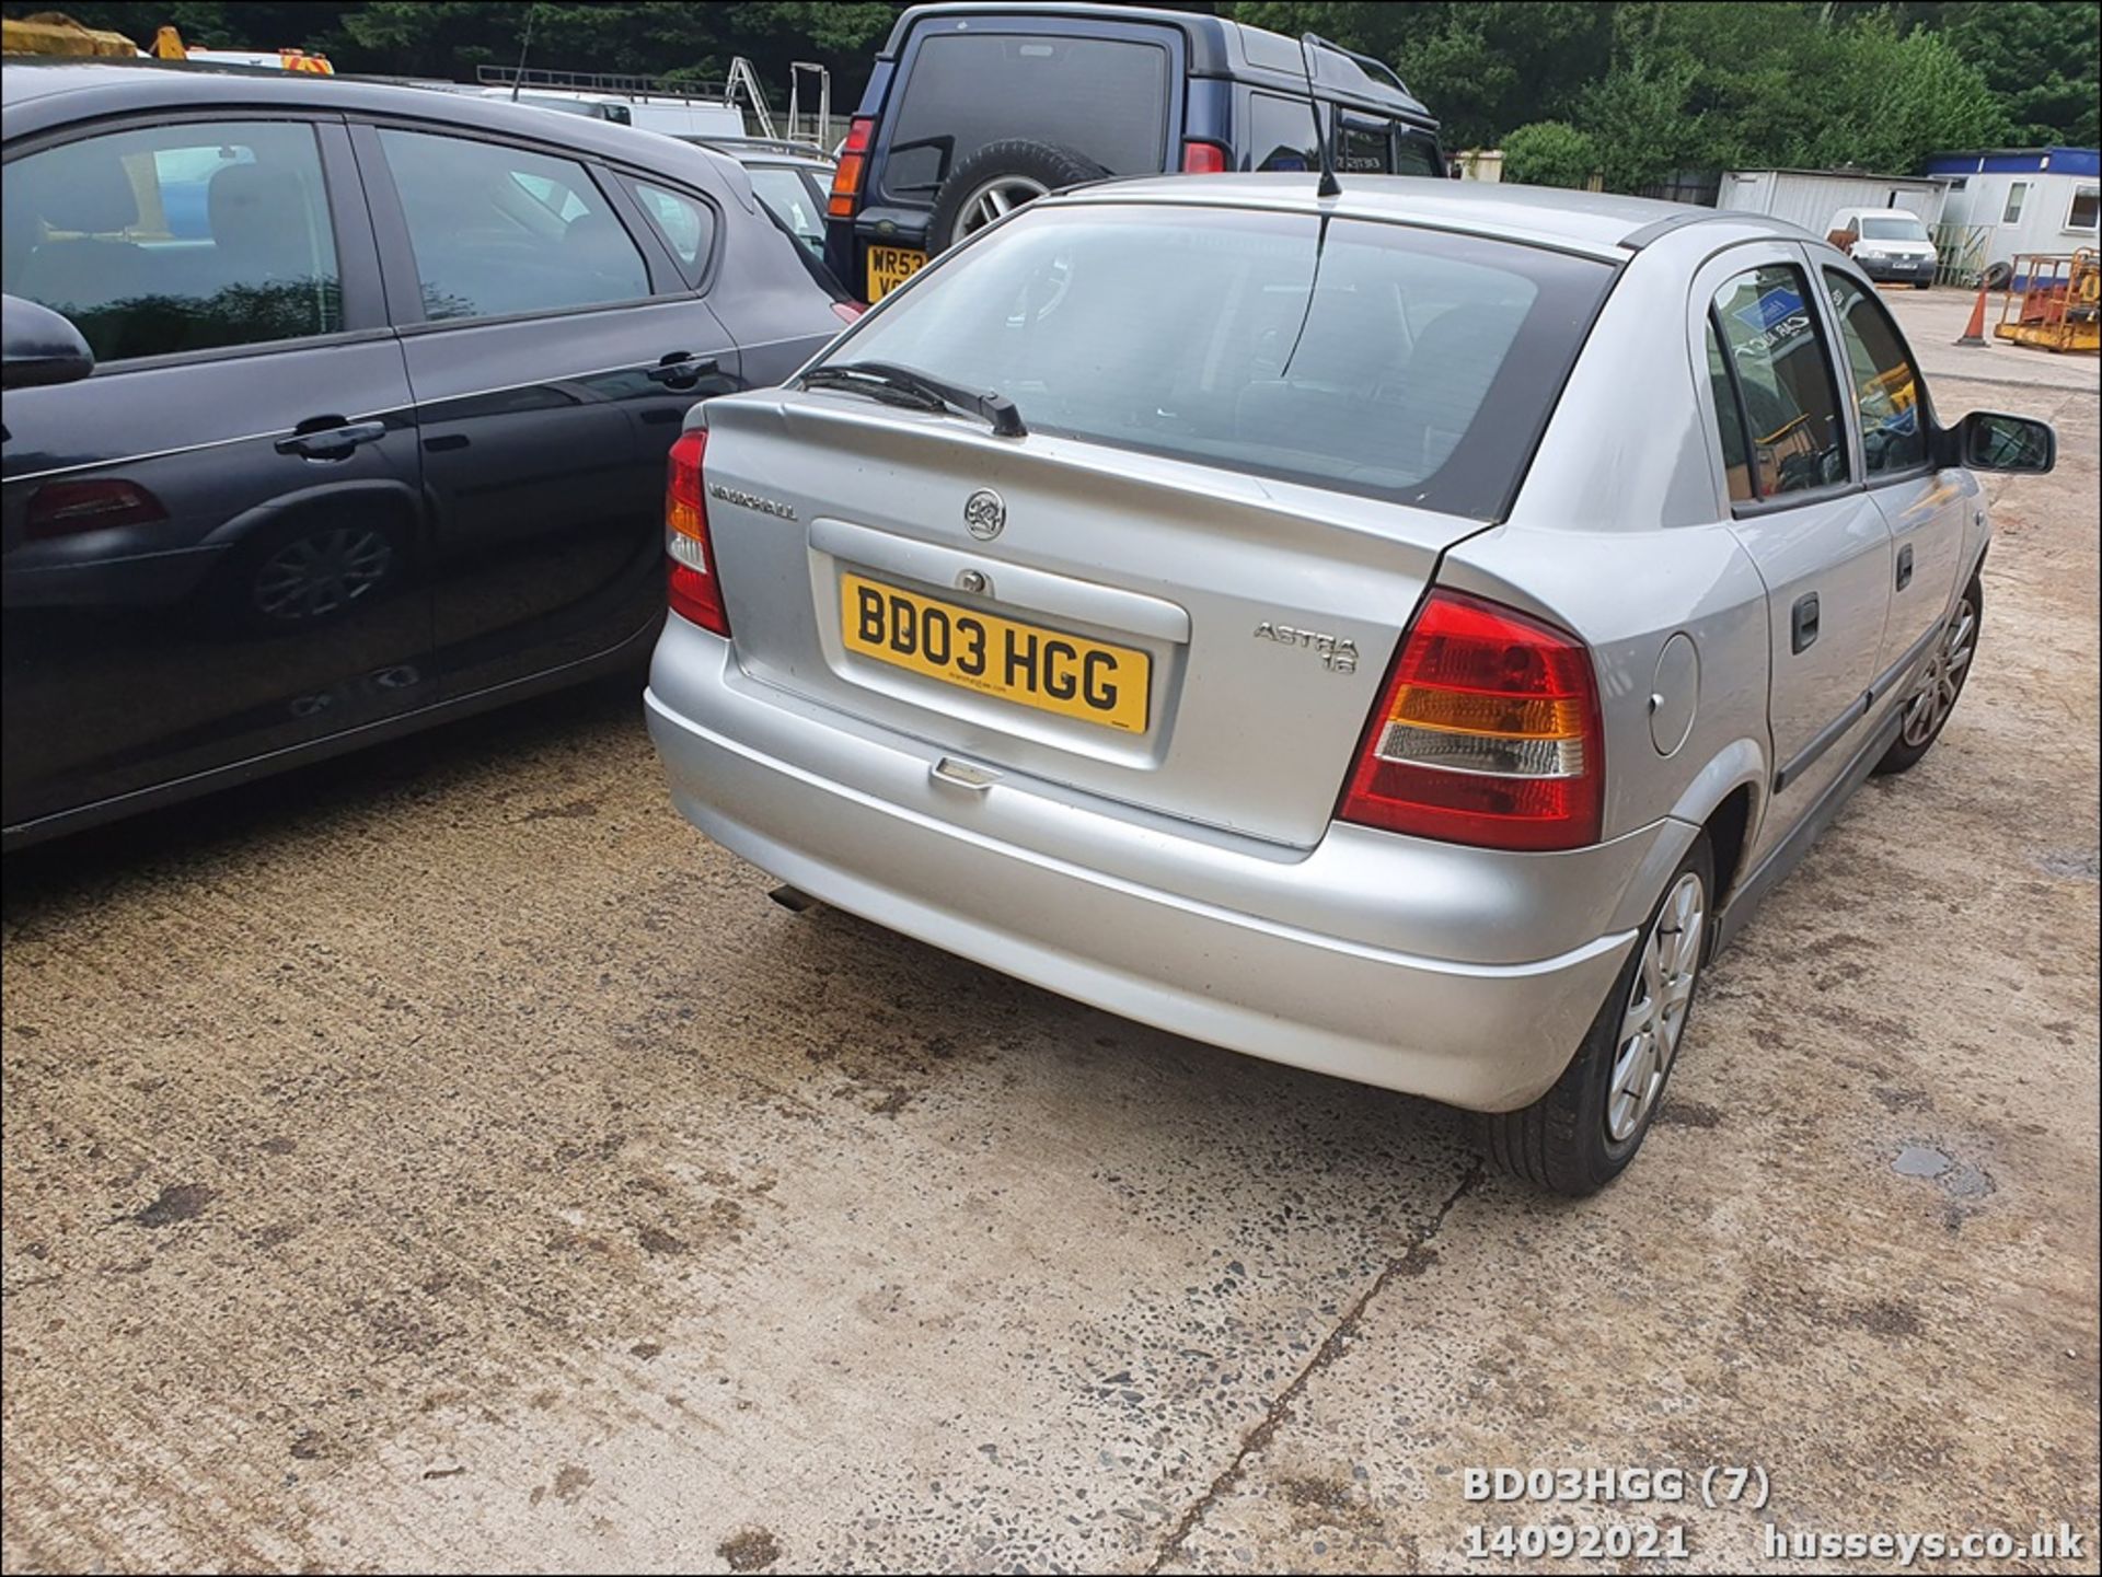
POLYGON ((4 1567, 1446 1571, 1555 1525, 1747 1571, 1766 1522, 2066 1522, 1953 1569, 2094 1571, 2098 422, 2024 355, 1936 380, 2062 437, 1993 485, 1963 706, 1717 962, 1587 1203, 788 916, 626 687, 11 861, 4 1567), (1469 1501, 1495 1466, 1692 1478, 1469 1501))

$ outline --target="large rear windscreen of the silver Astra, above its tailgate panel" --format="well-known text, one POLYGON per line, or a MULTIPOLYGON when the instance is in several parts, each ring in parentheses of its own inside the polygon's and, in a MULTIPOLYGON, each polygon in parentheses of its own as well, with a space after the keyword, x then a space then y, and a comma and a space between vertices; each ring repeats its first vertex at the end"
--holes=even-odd
POLYGON ((1032 433, 1492 521, 1610 281, 1406 225, 1032 208, 828 359, 998 391, 1032 433))

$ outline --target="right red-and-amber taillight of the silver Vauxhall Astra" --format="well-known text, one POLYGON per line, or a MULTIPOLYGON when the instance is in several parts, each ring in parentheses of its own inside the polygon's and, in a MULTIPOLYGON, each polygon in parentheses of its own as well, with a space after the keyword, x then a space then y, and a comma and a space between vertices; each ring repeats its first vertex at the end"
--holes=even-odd
POLYGON ((1484 848, 1579 848, 1598 842, 1604 779, 1585 645, 1434 590, 1402 636, 1337 817, 1484 848))

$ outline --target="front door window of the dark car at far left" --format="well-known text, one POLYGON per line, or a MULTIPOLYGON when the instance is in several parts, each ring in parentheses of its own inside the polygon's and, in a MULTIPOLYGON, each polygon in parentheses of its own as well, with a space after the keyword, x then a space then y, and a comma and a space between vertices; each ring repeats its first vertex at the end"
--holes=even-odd
POLYGON ((6 166, 6 294, 74 321, 97 361, 334 334, 336 235, 313 130, 187 122, 6 166))

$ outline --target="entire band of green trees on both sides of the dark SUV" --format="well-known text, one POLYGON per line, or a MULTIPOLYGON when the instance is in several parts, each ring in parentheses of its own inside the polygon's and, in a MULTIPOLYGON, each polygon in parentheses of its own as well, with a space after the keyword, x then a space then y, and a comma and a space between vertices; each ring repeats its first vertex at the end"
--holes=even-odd
MULTIPOLYGON (((530 65, 719 80, 746 55, 782 97, 822 61, 851 107, 893 0, 0 0, 149 44, 324 50, 338 69, 473 78, 530 65)), ((2096 145, 2102 6, 2091 0, 1223 0, 1291 38, 1392 61, 1448 147, 1583 132, 1606 185, 1675 170, 1904 172, 1936 147, 2096 145)), ((1566 139, 1564 139, 1566 143, 1566 139)), ((1524 143, 1522 143, 1524 147, 1524 143)), ((1560 168, 1560 166, 1555 166, 1560 168)))

